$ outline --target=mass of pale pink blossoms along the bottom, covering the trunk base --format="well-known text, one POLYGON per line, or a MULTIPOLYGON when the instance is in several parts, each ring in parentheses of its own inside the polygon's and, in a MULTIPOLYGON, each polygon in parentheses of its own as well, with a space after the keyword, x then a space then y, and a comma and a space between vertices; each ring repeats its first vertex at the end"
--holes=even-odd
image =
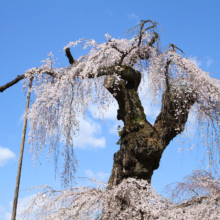
MULTIPOLYGON (((160 196, 145 180, 128 178, 112 188, 72 187, 63 191, 42 186, 22 219, 220 219, 220 181, 205 171, 194 171, 187 177, 187 188, 172 189, 194 195, 176 203, 160 196), (192 178, 193 177, 193 178, 192 178), (190 181, 189 181, 190 180, 190 181), (196 182, 196 184, 194 183, 196 182), (193 185, 194 184, 194 185, 193 185), (201 188, 203 187, 203 189, 201 188), (200 188, 200 189, 199 189, 200 188), (200 191, 199 191, 199 190, 200 191)), ((39 189, 39 187, 37 188, 39 189)), ((176 196, 174 196, 176 198, 176 196)))

